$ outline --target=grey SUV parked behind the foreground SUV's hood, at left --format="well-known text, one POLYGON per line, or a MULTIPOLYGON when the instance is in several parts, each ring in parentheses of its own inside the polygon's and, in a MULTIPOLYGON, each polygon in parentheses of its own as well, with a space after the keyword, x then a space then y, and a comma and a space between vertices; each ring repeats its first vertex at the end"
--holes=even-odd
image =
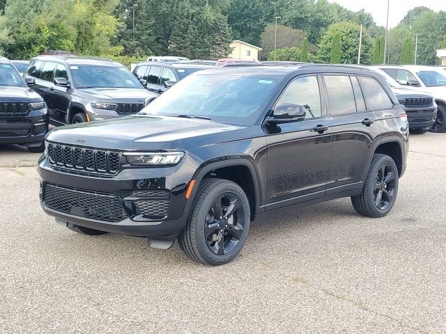
POLYGON ((54 125, 104 120, 141 111, 157 95, 120 63, 104 58, 38 56, 25 72, 47 103, 54 125))

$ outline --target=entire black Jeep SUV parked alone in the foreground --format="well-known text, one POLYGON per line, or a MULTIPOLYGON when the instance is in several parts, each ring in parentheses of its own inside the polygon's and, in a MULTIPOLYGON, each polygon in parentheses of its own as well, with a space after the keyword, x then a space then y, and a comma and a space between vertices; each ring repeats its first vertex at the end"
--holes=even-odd
POLYGON ((116 232, 224 264, 254 217, 351 197, 390 212, 408 122, 385 79, 335 65, 226 67, 178 82, 118 122, 47 135, 40 200, 76 232, 116 232))

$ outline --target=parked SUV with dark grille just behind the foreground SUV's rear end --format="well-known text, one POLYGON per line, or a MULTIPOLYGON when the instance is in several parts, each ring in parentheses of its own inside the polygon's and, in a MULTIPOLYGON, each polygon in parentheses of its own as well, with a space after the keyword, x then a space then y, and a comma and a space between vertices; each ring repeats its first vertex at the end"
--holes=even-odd
POLYGON ((397 95, 399 103, 406 107, 410 133, 424 134, 431 129, 437 115, 437 104, 433 95, 401 86, 383 70, 378 67, 371 68, 385 77, 393 93, 397 95))

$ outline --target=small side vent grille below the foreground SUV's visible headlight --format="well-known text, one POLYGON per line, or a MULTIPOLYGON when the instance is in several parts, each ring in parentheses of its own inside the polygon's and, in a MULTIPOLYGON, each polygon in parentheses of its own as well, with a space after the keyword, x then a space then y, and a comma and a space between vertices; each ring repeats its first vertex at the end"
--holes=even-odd
POLYGON ((146 190, 133 191, 132 196, 139 196, 140 200, 135 200, 138 211, 143 216, 164 217, 170 205, 171 193, 168 190, 146 190))

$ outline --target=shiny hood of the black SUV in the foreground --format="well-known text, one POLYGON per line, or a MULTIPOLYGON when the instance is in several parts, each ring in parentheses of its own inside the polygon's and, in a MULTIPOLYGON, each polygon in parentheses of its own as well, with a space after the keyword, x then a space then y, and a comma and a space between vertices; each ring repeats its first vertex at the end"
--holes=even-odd
MULTIPOLYGON (((240 129, 245 129, 245 126, 211 120, 135 115, 57 127, 47 134, 47 140, 114 150, 160 150, 168 142, 184 143, 192 138, 215 137, 222 132, 240 129)), ((231 135, 220 138, 227 140, 231 135)), ((200 143, 206 145, 206 141, 200 143)))

